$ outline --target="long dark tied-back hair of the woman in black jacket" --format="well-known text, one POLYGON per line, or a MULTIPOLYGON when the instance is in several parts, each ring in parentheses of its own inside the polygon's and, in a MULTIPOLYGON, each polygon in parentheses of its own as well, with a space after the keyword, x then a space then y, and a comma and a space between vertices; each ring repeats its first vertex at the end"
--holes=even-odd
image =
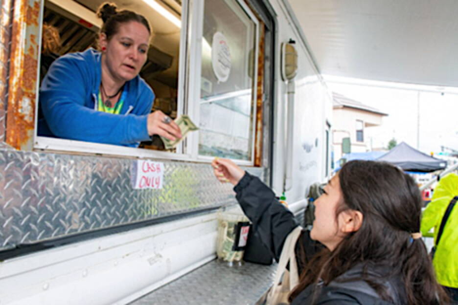
POLYGON ((351 280, 366 281, 385 301, 394 302, 396 296, 409 305, 448 300, 435 280, 425 244, 412 240, 411 234, 420 232, 422 205, 413 179, 388 163, 375 161, 347 162, 338 174, 343 202, 336 215, 360 211, 363 223, 333 251, 325 249, 308 262, 290 300, 320 279, 327 285, 356 265, 362 266, 362 276, 351 280), (370 266, 381 267, 383 274, 373 276, 367 272, 370 266), (401 283, 389 293, 383 280, 396 278, 401 283))

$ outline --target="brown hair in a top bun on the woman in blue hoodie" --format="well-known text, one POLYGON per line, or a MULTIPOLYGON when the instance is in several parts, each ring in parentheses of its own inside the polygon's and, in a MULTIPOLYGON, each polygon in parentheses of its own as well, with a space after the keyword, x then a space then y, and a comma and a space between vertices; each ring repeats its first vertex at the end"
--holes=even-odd
POLYGON ((105 33, 108 40, 119 31, 119 24, 131 21, 143 24, 151 35, 151 29, 145 17, 129 10, 118 11, 115 3, 102 3, 97 9, 97 17, 103 21, 100 32, 105 33))

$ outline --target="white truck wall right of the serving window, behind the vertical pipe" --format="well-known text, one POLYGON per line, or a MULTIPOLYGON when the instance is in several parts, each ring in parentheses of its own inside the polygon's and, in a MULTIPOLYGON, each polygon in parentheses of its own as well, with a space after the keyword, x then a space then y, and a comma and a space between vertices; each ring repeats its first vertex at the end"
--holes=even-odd
MULTIPOLYGON (((296 41, 298 50, 298 75, 295 78, 293 131, 293 184, 286 193, 287 201, 304 199, 308 186, 324 178, 325 126, 331 122, 332 102, 327 87, 315 69, 306 45, 300 38, 282 0, 271 2, 278 21, 277 63, 280 63, 280 44, 290 39, 296 41), (329 108, 329 109, 328 109, 329 108)), ((280 69, 275 74, 277 96, 275 101, 273 187, 277 193, 283 190, 286 147, 286 82, 281 79, 280 69)))

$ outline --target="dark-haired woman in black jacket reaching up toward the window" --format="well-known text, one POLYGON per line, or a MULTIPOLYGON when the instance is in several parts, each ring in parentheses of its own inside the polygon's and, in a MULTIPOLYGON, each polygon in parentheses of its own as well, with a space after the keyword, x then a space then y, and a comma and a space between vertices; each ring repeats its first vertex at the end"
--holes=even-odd
MULTIPOLYGON (((297 227, 293 214, 232 161, 216 159, 212 166, 220 181, 235 185, 253 229, 278 259, 297 227)), ((302 231, 296 246, 301 276, 291 304, 447 302, 418 233, 421 197, 410 176, 387 163, 351 161, 324 187, 315 206, 313 228, 302 231), (317 253, 310 253, 319 249, 313 240, 324 245, 317 253)))

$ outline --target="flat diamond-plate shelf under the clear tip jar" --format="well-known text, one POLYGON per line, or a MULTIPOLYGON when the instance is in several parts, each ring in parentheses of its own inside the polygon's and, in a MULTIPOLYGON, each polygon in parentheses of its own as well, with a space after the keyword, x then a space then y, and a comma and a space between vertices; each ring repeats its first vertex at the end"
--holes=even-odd
POLYGON ((276 266, 246 262, 229 267, 221 261, 210 261, 130 305, 254 304, 272 285, 276 266))

